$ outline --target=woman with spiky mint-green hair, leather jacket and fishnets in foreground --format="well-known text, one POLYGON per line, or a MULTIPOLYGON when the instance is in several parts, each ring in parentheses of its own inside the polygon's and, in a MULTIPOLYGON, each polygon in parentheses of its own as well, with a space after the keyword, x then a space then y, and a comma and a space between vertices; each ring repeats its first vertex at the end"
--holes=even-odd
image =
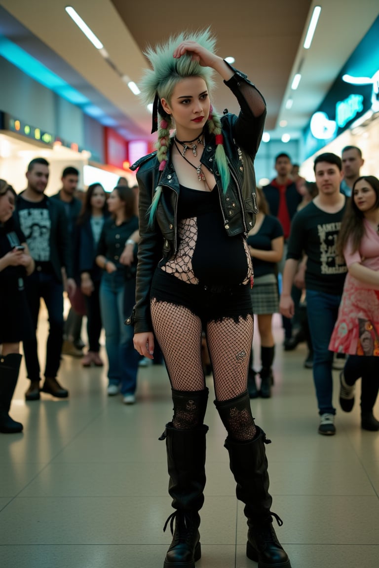
POLYGON ((132 166, 139 168, 140 243, 128 323, 144 357, 153 358, 158 341, 172 387, 173 419, 161 436, 175 509, 165 525, 170 521, 173 533, 165 568, 193 568, 201 557, 208 430, 203 328, 215 406, 248 519, 247 556, 261 566, 290 568, 272 527, 278 517, 270 511, 268 440, 253 420, 247 392, 253 273, 246 236, 257 212, 253 158, 266 106, 246 76, 214 50, 215 38, 205 30, 170 37, 146 53, 152 69, 141 90, 154 101, 158 150, 132 166), (214 72, 235 95, 239 116, 220 117, 211 105, 214 72))

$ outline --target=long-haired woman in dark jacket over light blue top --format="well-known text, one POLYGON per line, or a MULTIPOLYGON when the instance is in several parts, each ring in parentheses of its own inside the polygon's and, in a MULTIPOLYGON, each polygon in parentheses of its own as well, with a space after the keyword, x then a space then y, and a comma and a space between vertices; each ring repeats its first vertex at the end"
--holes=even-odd
POLYGON ((82 365, 103 366, 99 355, 102 329, 100 313, 100 281, 102 270, 95 262, 97 245, 106 218, 109 216, 106 193, 101 183, 92 183, 86 191, 84 211, 78 219, 78 254, 80 287, 85 296, 87 315, 88 352, 82 365))

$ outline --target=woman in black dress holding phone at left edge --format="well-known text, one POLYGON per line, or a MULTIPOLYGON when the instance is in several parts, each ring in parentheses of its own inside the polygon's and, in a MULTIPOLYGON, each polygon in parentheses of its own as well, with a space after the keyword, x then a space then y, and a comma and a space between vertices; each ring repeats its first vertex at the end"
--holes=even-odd
POLYGON ((24 278, 34 270, 26 238, 13 221, 15 201, 13 187, 0 179, 0 432, 5 434, 23 429, 9 416, 9 409, 22 358, 20 341, 25 339, 28 321, 24 278))

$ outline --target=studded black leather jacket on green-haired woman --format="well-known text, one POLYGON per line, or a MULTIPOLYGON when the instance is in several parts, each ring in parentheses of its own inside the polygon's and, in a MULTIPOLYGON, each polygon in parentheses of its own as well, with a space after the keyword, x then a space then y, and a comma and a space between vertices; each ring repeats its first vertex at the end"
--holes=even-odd
MULTIPOLYGON (((235 70, 234 76, 224 83, 235 94, 240 114, 224 114, 221 119, 224 149, 229 162, 230 184, 223 192, 220 174, 215 162, 215 139, 205 133, 205 148, 201 163, 214 174, 219 194, 224 228, 228 235, 247 236, 258 212, 253 161, 260 144, 265 122, 266 107, 262 95, 235 70)), ((226 111, 227 112, 227 111, 226 111)), ((136 304, 126 324, 134 324, 135 333, 152 331, 149 293, 156 266, 162 257, 170 258, 177 252, 177 202, 179 182, 170 160, 170 151, 163 172, 159 171, 156 152, 144 156, 131 166, 139 168, 139 231, 136 304), (163 188, 157 207, 155 224, 148 226, 148 208, 155 188, 163 188)))

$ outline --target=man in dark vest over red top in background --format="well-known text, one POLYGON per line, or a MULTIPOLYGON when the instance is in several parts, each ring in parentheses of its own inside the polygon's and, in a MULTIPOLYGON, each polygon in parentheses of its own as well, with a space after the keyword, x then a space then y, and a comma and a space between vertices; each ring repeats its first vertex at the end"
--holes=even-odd
MULTIPOLYGON (((278 272, 282 274, 286 258, 287 241, 290 235, 291 220, 297 211, 302 197, 297 190, 294 179, 291 178, 292 164, 288 154, 285 152, 277 154, 275 158, 275 169, 277 172, 276 178, 262 189, 269 206, 270 215, 276 217, 283 227, 284 251, 282 260, 278 262, 278 272)), ((293 287, 293 296, 297 304, 299 303, 300 295, 301 291, 293 287)), ((292 321, 285 316, 282 316, 282 322, 284 328, 284 349, 290 351, 297 346, 297 339, 292 334, 293 324, 292 321)))

